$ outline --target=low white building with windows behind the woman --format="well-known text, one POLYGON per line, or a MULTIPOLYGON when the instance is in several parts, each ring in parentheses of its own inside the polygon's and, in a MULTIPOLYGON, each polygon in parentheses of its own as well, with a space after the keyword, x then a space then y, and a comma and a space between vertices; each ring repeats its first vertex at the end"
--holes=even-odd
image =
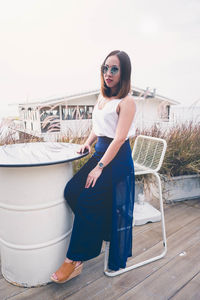
MULTIPOLYGON (((86 135, 91 128, 94 105, 100 90, 68 95, 65 97, 19 104, 22 130, 36 136, 65 134, 86 135)), ((136 127, 144 128, 154 123, 169 122, 170 107, 179 102, 149 91, 132 87, 137 106, 136 127)))

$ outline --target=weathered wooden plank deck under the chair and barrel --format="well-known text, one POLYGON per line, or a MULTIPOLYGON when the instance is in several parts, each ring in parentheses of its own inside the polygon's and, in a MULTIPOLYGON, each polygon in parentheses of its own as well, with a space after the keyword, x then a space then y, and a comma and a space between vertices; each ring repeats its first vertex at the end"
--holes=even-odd
MULTIPOLYGON (((111 278, 103 273, 102 253, 79 277, 38 288, 13 286, 0 274, 0 300, 199 300, 200 199, 165 205, 165 220, 168 252, 157 262, 111 278)), ((160 241, 160 222, 135 227, 132 260, 160 253, 160 241)))

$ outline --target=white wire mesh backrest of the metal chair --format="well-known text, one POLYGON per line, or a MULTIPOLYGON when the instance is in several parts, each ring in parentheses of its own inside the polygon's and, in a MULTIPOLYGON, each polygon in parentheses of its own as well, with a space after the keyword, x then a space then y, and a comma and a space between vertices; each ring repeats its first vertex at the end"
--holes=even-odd
POLYGON ((133 161, 140 167, 157 172, 162 166, 166 149, 167 143, 164 139, 139 135, 133 146, 133 161))

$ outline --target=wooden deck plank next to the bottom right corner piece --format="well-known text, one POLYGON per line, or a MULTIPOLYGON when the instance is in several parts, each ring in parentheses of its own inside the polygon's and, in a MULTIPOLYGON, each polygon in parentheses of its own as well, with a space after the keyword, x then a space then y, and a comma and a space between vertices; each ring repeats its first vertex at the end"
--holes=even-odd
MULTIPOLYGON (((166 300, 184 286, 200 270, 200 241, 185 249, 185 255, 175 256, 152 276, 129 290, 118 300, 166 300)), ((183 299, 183 298, 182 298, 183 299)), ((187 298, 191 299, 191 298, 187 298)))

